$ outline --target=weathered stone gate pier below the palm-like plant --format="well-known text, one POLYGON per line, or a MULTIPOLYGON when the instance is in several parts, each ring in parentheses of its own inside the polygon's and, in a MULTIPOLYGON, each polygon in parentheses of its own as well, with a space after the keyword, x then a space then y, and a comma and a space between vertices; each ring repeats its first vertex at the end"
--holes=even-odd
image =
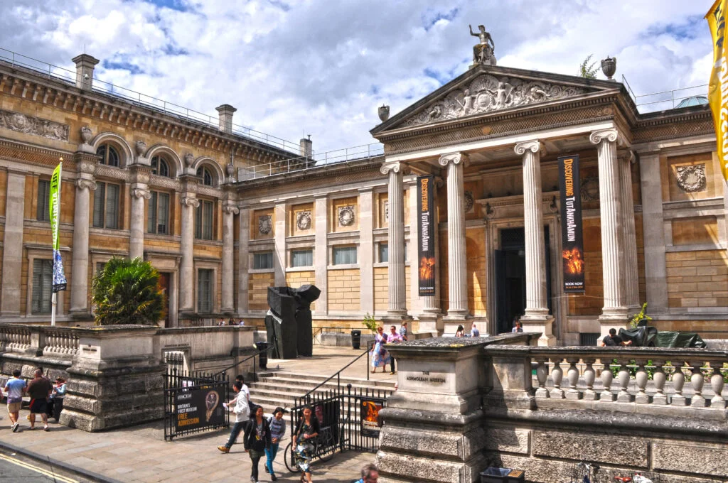
POLYGON ((77 330, 60 423, 84 431, 132 426, 164 416, 164 372, 154 353, 158 327, 77 330))

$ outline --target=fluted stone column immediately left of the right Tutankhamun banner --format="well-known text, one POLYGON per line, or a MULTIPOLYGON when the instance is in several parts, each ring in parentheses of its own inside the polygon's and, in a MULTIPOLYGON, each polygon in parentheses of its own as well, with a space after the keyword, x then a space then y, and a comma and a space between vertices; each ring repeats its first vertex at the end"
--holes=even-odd
POLYGON ((542 144, 538 140, 515 145, 523 156, 523 231, 526 234, 526 311, 521 317, 525 332, 541 332, 539 346, 553 346, 553 316, 546 299, 546 254, 541 196, 542 144))

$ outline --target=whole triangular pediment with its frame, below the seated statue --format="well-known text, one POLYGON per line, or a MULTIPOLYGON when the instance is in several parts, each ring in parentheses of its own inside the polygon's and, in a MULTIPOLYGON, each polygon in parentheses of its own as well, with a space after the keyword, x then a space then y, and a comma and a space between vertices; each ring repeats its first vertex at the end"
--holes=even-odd
POLYGON ((453 79, 371 130, 419 127, 529 105, 619 90, 614 81, 496 66, 478 66, 453 79))

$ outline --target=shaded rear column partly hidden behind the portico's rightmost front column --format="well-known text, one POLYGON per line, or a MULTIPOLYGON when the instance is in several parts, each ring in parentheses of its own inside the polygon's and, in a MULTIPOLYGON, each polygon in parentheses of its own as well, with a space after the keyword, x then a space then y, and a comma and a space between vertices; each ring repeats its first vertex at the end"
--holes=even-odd
POLYGON ((620 166, 620 191, 622 199, 622 239, 624 240, 624 257, 622 257, 622 287, 625 289, 625 303, 630 311, 639 311, 639 275, 637 271, 637 234, 635 231, 635 205, 632 196, 631 164, 635 156, 630 151, 618 159, 620 166))

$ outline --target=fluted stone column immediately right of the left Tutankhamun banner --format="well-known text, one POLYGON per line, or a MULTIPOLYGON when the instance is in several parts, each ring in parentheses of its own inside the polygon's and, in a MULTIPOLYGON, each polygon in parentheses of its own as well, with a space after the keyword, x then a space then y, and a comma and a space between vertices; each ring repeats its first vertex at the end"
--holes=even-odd
POLYGON ((456 325, 467 319, 467 253, 465 247, 465 190, 463 165, 467 156, 449 153, 440 156, 440 166, 448 172, 448 292, 450 305, 445 317, 446 332, 455 332, 456 325))

